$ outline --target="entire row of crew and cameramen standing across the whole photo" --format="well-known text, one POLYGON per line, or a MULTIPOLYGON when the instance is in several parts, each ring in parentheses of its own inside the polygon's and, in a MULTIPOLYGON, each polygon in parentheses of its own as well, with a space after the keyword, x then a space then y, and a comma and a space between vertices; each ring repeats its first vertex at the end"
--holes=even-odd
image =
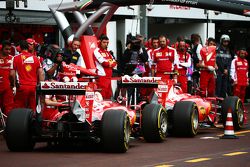
MULTIPOLYGON (((165 35, 152 37, 146 44, 142 35, 128 37, 119 61, 108 50, 109 38, 106 35, 100 37, 93 53, 99 76, 97 86, 102 89, 101 94, 105 99, 112 97, 112 73, 118 65, 121 75, 156 76, 166 81, 170 79, 166 73, 174 72, 177 74, 174 80, 184 93, 192 93, 192 83, 195 83, 199 84, 199 93, 203 97, 236 95, 244 101, 249 85, 248 53, 245 48, 239 48, 236 52, 230 50, 228 35, 222 35, 219 44, 214 38, 208 38, 204 46, 198 34, 191 36, 188 40, 191 42, 178 37, 173 45, 165 35)), ((18 53, 12 51, 10 41, 2 42, 0 107, 6 114, 13 107, 35 111, 37 83, 58 80, 58 73, 63 70, 62 63, 83 64, 83 58, 77 51, 81 45, 79 39, 73 39, 64 50, 50 44, 36 52, 35 45, 35 40, 31 38, 20 41, 18 53)))

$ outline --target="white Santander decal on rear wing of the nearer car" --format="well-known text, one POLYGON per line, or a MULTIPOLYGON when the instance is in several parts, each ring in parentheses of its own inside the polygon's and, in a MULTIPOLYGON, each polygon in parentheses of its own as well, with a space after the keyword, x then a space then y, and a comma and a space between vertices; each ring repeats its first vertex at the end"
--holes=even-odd
POLYGON ((87 82, 41 82, 42 90, 49 89, 67 89, 67 90, 80 90, 85 89, 87 82))

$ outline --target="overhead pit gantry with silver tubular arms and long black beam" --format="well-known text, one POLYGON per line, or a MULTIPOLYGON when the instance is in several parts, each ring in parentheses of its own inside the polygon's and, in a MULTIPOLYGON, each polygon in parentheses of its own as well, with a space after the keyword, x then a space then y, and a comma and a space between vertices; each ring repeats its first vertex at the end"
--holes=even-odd
POLYGON ((102 24, 95 34, 97 37, 101 35, 107 22, 119 6, 146 4, 173 4, 250 16, 250 2, 243 0, 82 0, 63 3, 59 7, 58 4, 50 5, 49 8, 55 17, 64 39, 69 42, 73 37, 80 37, 83 33, 93 35, 91 25, 105 12, 108 13, 103 18, 102 24), (85 13, 93 10, 95 10, 94 14, 87 18, 85 13), (72 33, 69 22, 64 15, 65 12, 69 11, 73 11, 76 20, 80 24, 76 34, 72 33))

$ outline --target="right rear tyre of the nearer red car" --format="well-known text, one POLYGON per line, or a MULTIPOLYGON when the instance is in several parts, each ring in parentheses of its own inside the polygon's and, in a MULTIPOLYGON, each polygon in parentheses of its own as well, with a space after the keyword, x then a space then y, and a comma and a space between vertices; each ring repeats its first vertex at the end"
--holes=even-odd
POLYGON ((102 116, 102 143, 107 152, 124 153, 129 147, 130 121, 126 111, 108 110, 102 116))

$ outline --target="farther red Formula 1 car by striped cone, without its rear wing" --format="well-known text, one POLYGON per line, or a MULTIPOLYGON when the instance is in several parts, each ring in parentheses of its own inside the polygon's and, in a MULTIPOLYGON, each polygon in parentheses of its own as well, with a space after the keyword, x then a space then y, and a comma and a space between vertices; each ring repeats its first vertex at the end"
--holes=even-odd
MULTIPOLYGON (((168 73, 167 75, 176 75, 168 73)), ((240 98, 206 97, 183 93, 174 80, 160 82, 155 94, 168 112, 168 132, 181 136, 195 136, 199 125, 225 125, 227 112, 232 109, 235 130, 243 128, 246 111, 240 98)))

